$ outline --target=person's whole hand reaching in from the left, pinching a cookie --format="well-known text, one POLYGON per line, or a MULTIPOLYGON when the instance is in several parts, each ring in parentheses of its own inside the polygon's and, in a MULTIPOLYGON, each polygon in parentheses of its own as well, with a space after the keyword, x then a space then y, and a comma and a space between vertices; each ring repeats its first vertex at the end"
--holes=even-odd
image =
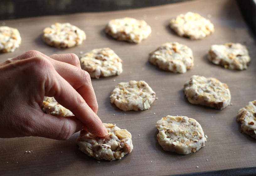
POLYGON ((88 130, 104 137, 98 104, 88 72, 75 54, 46 56, 28 51, 0 64, 0 137, 41 136, 67 140, 88 130), (54 97, 75 116, 59 117, 40 109, 44 96, 54 97))

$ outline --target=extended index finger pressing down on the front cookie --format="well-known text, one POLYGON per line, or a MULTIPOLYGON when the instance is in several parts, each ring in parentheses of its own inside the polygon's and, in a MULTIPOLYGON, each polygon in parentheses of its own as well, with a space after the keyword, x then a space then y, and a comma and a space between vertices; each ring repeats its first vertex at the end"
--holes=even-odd
POLYGON ((44 84, 45 96, 54 96, 56 101, 71 110, 92 134, 99 137, 106 136, 107 129, 82 96, 53 67, 47 72, 47 80, 44 84))

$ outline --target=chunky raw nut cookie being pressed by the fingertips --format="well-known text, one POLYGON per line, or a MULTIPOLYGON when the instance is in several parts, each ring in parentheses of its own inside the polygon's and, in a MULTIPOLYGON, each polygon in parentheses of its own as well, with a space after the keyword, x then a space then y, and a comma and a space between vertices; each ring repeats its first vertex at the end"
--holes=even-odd
POLYGON ((133 149, 131 133, 118 128, 115 124, 105 124, 108 130, 106 137, 97 137, 88 131, 80 131, 77 138, 79 150, 97 160, 105 159, 113 161, 121 159, 133 149))

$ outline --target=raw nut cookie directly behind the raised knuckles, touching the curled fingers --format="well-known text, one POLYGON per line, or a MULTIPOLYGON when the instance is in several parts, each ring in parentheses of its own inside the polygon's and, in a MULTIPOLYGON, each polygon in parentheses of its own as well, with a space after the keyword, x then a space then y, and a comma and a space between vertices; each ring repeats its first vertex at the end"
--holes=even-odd
POLYGON ((109 77, 123 72, 122 60, 110 48, 94 49, 80 58, 81 67, 91 77, 109 77))

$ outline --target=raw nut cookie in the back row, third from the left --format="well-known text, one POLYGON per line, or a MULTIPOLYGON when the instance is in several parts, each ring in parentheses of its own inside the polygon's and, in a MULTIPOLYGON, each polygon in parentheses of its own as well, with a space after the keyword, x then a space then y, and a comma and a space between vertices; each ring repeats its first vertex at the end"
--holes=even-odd
POLYGON ((151 34, 151 27, 144 20, 126 17, 110 20, 105 32, 116 40, 141 43, 151 34))

